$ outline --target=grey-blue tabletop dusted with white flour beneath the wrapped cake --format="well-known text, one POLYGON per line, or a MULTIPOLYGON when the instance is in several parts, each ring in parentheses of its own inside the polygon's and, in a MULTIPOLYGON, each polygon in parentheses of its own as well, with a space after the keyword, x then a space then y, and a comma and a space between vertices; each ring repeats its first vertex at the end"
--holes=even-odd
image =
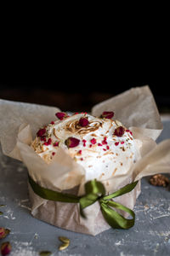
MULTIPOLYGON (((157 142, 170 138, 170 120, 163 120, 164 130, 157 142)), ((161 172, 161 170, 160 170, 161 172)), ((167 175, 169 177, 169 175, 167 175)), ((10 255, 39 255, 42 250, 52 255, 170 255, 170 186, 150 185, 142 179, 142 192, 134 207, 136 222, 130 230, 107 230, 88 236, 56 228, 31 216, 26 167, 8 158, 0 150, 0 227, 11 230, 3 239, 10 241, 10 255), (71 239, 60 252, 59 236, 71 239)), ((0 241, 3 242, 3 241, 0 241)))

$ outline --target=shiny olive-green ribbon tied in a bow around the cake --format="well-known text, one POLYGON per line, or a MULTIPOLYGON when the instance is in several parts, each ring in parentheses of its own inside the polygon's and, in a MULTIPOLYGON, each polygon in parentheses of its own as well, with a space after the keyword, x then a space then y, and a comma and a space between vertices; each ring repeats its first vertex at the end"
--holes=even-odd
POLYGON ((63 194, 57 191, 42 188, 40 185, 35 183, 35 181, 30 176, 28 176, 28 179, 33 191, 44 199, 67 203, 79 203, 80 213, 83 218, 86 218, 83 209, 94 204, 94 202, 99 201, 101 212, 106 222, 110 224, 112 228, 127 230, 133 227, 133 224, 135 222, 135 213, 131 209, 124 207, 122 204, 116 201, 112 201, 112 199, 132 191, 137 185, 138 181, 126 185, 125 187, 117 190, 111 195, 105 195, 104 185, 94 179, 85 184, 85 195, 77 196, 71 194, 63 194), (128 212, 132 218, 124 218, 113 208, 128 212))

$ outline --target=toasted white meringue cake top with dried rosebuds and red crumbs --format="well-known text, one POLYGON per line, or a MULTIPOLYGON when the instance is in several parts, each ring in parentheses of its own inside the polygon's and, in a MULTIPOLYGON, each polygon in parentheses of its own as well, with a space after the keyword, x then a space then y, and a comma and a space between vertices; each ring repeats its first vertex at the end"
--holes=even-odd
POLYGON ((113 112, 99 118, 88 113, 56 113, 57 120, 37 131, 31 147, 50 163, 58 148, 83 166, 86 179, 104 180, 126 174, 136 161, 132 131, 113 119, 113 112))

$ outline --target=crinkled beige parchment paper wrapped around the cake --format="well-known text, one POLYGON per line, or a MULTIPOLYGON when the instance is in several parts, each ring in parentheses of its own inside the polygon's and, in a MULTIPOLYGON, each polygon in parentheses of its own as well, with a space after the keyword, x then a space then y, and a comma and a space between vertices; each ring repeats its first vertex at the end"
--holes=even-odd
MULTIPOLYGON (((59 108, 0 100, 0 109, 3 154, 22 160, 31 177, 42 187, 78 195, 85 172, 83 167, 62 148, 59 148, 52 163, 46 164, 30 147, 37 130, 54 120, 54 114, 59 112, 59 108)), ((127 90, 94 106, 92 114, 99 116, 103 111, 111 110, 115 113, 114 119, 120 120, 133 131, 138 144, 139 160, 125 175, 102 181, 106 192, 113 193, 144 176, 170 172, 170 140, 158 145, 155 142, 162 131, 162 124, 150 88, 143 86, 127 90)), ((30 185, 29 192, 31 213, 35 218, 66 230, 93 236, 110 229, 98 201, 85 209, 88 219, 83 219, 78 204, 43 200, 32 191, 30 185)), ((139 193, 140 182, 133 191, 117 197, 115 201, 133 209, 139 193)))

